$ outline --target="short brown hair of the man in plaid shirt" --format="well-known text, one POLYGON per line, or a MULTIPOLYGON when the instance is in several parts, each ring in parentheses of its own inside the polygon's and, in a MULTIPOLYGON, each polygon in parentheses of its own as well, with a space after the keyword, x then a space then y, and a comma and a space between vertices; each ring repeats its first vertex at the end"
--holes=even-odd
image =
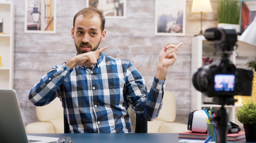
POLYGON ((76 17, 78 17, 79 15, 94 16, 94 14, 97 14, 99 16, 99 18, 101 19, 101 32, 102 32, 105 28, 105 17, 103 16, 102 11, 100 11, 99 9, 94 8, 94 7, 85 7, 83 9, 81 9, 79 12, 77 12, 76 15, 74 16, 73 27, 75 27, 76 17))

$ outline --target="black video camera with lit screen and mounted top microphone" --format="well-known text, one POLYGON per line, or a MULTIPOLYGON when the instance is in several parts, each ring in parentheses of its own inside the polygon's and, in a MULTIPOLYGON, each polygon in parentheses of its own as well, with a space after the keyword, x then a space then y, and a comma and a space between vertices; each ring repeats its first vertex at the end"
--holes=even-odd
POLYGON ((234 29, 209 28, 204 37, 214 41, 216 52, 221 59, 211 65, 200 67, 192 76, 195 89, 208 97, 232 97, 234 95, 251 95, 253 71, 236 68, 229 60, 237 41, 234 29))

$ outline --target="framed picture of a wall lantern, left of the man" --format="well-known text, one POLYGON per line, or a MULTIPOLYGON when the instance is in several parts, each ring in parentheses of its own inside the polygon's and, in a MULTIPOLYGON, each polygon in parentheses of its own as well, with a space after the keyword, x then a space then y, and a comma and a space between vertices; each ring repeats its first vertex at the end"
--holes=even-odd
POLYGON ((57 0, 25 0, 25 33, 56 33, 57 0))

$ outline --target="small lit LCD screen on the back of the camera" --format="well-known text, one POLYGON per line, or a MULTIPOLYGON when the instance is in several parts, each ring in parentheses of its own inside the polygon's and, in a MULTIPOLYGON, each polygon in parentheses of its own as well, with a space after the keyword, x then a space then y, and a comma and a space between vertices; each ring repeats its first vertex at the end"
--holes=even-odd
POLYGON ((234 74, 216 74, 214 76, 214 90, 217 92, 234 92, 235 79, 234 74))

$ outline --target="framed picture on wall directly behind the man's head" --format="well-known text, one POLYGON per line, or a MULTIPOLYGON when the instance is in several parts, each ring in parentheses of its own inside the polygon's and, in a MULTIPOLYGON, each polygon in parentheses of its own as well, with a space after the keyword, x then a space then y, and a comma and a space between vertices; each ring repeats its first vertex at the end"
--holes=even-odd
POLYGON ((106 19, 126 18, 126 0, 87 0, 87 2, 86 5, 103 11, 106 19))

